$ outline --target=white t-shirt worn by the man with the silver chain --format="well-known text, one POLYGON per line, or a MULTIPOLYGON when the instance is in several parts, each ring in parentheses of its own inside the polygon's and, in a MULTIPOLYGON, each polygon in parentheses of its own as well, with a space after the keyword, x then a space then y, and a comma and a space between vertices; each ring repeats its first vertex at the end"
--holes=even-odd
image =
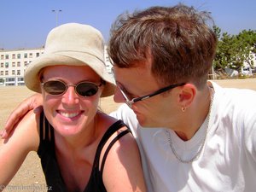
POLYGON ((148 191, 256 191, 256 92, 212 85, 208 130, 206 119, 186 142, 168 130, 183 160, 195 156, 207 131, 201 154, 192 163, 177 160, 165 128, 143 128, 125 104, 111 113, 123 119, 137 139, 148 191))

